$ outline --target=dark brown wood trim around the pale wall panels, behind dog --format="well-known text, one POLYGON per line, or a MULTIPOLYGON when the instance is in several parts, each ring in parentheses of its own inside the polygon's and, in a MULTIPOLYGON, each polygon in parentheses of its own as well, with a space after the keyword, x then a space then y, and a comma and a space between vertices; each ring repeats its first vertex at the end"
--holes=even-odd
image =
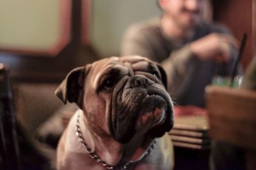
MULTIPOLYGON (((72 1, 71 6, 70 41, 55 57, 47 57, 44 54, 31 57, 31 55, 0 52, 0 62, 10 67, 13 80, 60 82, 74 67, 99 59, 92 46, 84 46, 81 43, 81 0, 72 1)), ((83 10, 86 8, 84 7, 83 10)))

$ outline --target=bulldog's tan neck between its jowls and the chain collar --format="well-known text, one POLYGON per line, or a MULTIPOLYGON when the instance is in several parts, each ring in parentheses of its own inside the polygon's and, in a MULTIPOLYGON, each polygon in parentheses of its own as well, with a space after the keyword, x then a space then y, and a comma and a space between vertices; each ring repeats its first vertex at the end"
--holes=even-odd
POLYGON ((154 140, 140 135, 134 136, 129 143, 122 144, 109 135, 104 134, 100 136, 92 131, 84 114, 81 114, 79 121, 83 122, 80 125, 85 143, 100 157, 100 159, 111 166, 115 166, 119 162, 140 159, 154 140))

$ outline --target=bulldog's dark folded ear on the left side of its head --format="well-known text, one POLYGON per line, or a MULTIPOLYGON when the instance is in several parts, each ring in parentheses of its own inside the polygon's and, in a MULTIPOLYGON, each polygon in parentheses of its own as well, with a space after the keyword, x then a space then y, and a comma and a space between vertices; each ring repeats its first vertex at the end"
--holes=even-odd
POLYGON ((77 67, 68 73, 66 78, 61 82, 60 86, 56 89, 55 94, 63 103, 76 103, 81 108, 83 100, 83 84, 88 66, 77 67))

